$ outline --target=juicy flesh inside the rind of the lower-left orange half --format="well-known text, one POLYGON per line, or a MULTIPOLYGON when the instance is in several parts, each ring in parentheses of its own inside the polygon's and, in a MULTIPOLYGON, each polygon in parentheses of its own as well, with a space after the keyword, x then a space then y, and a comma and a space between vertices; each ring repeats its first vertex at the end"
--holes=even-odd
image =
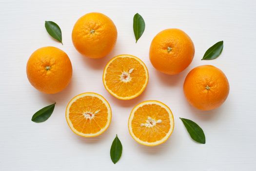
POLYGON ((85 134, 97 133, 101 128, 104 128, 107 124, 107 118, 108 109, 98 97, 81 97, 69 108, 69 119, 73 127, 85 134), (92 119, 88 119, 84 116, 86 112, 96 114, 92 119))

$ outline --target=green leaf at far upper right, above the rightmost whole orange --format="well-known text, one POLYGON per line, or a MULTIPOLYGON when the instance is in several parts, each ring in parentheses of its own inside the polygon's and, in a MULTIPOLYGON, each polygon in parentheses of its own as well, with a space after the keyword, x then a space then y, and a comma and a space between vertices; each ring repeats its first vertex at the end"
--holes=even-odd
POLYGON ((204 54, 201 60, 214 60, 216 59, 222 52, 223 49, 223 41, 215 43, 212 47, 210 47, 204 54))

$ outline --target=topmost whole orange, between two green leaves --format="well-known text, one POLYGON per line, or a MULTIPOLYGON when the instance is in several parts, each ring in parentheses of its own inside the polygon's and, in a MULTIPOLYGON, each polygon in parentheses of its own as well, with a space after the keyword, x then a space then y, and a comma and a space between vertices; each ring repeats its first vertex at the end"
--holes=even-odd
POLYGON ((102 58, 109 54, 117 37, 114 22, 104 14, 95 12, 79 18, 72 31, 74 46, 80 54, 89 58, 102 58))

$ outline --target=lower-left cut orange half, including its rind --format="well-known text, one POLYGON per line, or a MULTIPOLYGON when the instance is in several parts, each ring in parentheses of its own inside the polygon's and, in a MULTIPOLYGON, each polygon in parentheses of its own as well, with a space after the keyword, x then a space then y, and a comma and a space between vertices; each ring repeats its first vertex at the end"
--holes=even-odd
POLYGON ((66 120, 77 135, 95 137, 109 127, 111 108, 101 95, 93 92, 82 93, 68 103, 66 120))

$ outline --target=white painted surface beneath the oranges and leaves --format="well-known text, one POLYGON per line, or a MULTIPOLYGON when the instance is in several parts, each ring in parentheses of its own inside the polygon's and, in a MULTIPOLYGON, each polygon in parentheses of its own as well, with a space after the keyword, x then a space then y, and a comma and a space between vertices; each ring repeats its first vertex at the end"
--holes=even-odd
POLYGON ((255 51, 255 0, 0 0, 0 171, 256 171, 255 51), (88 12, 104 13, 118 29, 115 49, 103 59, 82 57, 71 41, 74 23, 88 12), (146 29, 135 43, 137 12, 146 29), (47 34, 45 20, 59 24, 63 45, 47 34), (192 64, 175 76, 156 71, 148 57, 153 37, 166 28, 184 30, 196 48, 192 64), (201 61, 221 40, 221 56, 201 61), (43 46, 64 50, 73 65, 70 85, 58 94, 42 94, 26 78, 29 56, 43 46), (104 65, 119 54, 138 56, 149 69, 146 90, 131 101, 115 99, 102 84, 104 65), (191 107, 182 90, 187 73, 202 64, 220 68, 230 83, 226 102, 208 112, 191 107), (113 111, 110 127, 96 138, 79 137, 65 120, 69 100, 87 91, 103 95, 113 111), (174 132, 158 147, 139 145, 128 132, 131 109, 145 100, 159 100, 174 113, 174 132), (54 102, 46 122, 31 121, 54 102), (179 117, 203 128, 205 145, 190 138, 179 117), (123 153, 114 165, 109 152, 116 134, 123 153))

